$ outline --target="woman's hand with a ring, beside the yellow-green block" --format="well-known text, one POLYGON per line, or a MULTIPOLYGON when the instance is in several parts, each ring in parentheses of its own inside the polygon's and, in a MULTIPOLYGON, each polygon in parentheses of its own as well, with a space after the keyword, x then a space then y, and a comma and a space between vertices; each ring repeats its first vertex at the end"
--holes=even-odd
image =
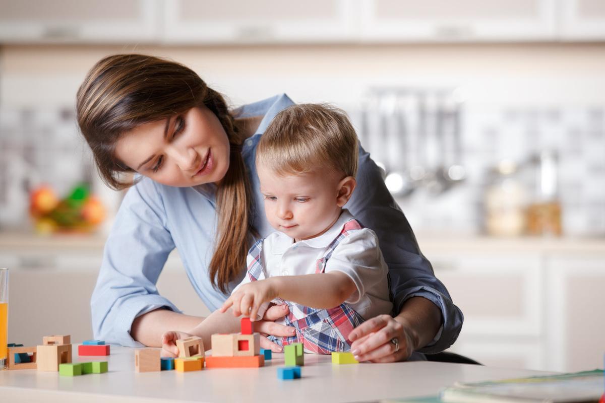
POLYGON ((416 349, 410 326, 401 318, 390 315, 379 315, 360 324, 349 334, 349 340, 353 341, 351 352, 357 361, 405 361, 416 349))

